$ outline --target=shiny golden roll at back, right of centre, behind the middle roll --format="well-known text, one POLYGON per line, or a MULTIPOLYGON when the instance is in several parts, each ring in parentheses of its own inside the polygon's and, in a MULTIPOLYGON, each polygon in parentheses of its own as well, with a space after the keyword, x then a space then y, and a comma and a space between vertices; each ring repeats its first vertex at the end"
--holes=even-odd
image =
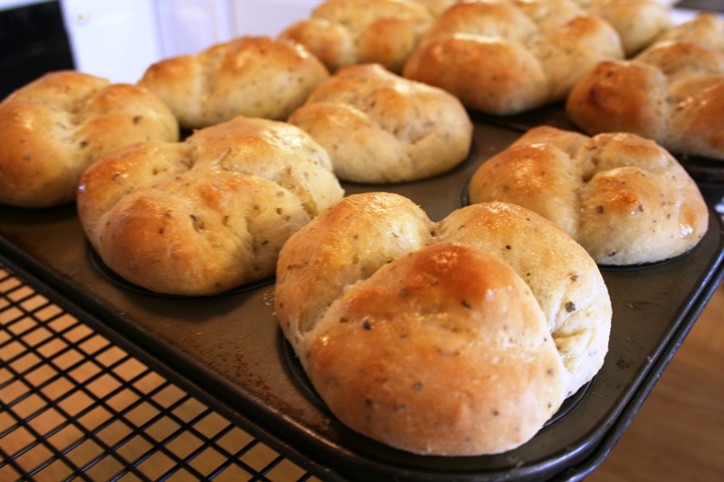
POLYGON ((558 1, 569 8, 533 16, 508 2, 453 5, 410 56, 403 75, 494 115, 563 100, 587 71, 600 61, 623 58, 624 51, 610 24, 584 14, 571 17, 575 5, 558 1))

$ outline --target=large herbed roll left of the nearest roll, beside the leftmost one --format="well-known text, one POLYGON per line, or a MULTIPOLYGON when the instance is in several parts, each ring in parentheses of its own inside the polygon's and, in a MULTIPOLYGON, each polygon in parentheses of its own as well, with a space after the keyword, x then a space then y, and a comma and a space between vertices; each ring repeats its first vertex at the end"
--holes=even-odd
POLYGON ((343 194, 329 156, 301 129, 234 118, 100 159, 81 176, 78 213, 123 279, 211 296, 273 276, 284 241, 343 194))

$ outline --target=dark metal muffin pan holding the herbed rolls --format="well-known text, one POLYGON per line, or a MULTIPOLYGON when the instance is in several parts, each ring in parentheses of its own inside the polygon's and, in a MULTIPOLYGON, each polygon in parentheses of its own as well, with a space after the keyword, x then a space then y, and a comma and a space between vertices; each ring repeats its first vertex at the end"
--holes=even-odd
MULTIPOLYGON (((464 203, 478 165, 520 136, 477 123, 472 155, 445 175, 387 190, 433 220, 464 203)), ((603 269, 614 306, 605 364, 565 412, 519 449, 485 457, 415 456, 336 421, 300 373, 273 312, 273 283, 213 298, 162 297, 113 279, 99 265, 74 206, 0 208, 0 258, 48 296, 243 428, 330 480, 572 479, 600 463, 651 391, 722 278, 724 235, 710 230, 690 253, 634 269, 603 269)))

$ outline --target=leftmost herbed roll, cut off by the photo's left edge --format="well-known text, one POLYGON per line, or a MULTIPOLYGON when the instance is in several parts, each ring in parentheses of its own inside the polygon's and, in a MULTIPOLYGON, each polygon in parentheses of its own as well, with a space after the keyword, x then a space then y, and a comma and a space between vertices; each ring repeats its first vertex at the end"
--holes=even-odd
POLYGON ((176 118, 146 89, 79 71, 54 71, 0 103, 0 204, 75 201, 83 170, 141 141, 178 140, 176 118))

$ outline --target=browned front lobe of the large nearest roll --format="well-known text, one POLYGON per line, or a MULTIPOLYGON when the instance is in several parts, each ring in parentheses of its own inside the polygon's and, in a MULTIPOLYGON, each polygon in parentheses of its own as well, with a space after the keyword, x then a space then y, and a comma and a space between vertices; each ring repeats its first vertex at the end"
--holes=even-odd
POLYGON ((471 246, 438 243, 395 260, 349 288, 321 329, 312 383, 341 421, 395 447, 512 449, 564 396, 535 298, 471 246))

